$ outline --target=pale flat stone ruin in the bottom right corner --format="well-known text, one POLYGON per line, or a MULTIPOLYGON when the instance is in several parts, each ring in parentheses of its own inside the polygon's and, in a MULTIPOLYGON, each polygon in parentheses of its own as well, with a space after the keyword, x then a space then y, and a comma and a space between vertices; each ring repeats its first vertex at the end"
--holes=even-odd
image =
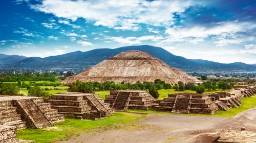
POLYGON ((253 143, 256 142, 256 132, 228 130, 214 141, 217 143, 253 143))

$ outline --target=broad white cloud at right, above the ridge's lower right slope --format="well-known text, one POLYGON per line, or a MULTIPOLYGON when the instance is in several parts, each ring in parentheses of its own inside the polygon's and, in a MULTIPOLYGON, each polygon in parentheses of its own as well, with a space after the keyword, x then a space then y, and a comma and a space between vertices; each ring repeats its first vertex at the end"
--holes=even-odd
POLYGON ((161 43, 172 43, 186 41, 197 44, 205 41, 206 38, 213 37, 216 46, 226 46, 228 44, 240 44, 246 41, 242 38, 242 32, 248 32, 256 28, 256 25, 249 22, 226 21, 212 23, 212 26, 192 26, 167 28, 165 33, 168 36, 161 43))

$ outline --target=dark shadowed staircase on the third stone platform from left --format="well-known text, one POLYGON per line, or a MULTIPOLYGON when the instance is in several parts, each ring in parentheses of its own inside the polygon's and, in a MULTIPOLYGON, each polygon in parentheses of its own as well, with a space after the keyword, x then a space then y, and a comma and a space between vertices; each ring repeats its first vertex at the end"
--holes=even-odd
POLYGON ((125 110, 128 107, 129 97, 131 97, 130 92, 119 92, 113 103, 113 107, 118 110, 125 110))

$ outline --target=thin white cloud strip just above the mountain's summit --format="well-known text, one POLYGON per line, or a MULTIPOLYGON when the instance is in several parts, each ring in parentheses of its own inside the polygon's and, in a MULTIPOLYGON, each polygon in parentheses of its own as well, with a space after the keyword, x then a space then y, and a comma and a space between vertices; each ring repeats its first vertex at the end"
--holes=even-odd
POLYGON ((163 39, 162 36, 146 35, 141 37, 106 37, 105 39, 110 39, 122 44, 139 44, 141 41, 152 40, 158 41, 163 39))

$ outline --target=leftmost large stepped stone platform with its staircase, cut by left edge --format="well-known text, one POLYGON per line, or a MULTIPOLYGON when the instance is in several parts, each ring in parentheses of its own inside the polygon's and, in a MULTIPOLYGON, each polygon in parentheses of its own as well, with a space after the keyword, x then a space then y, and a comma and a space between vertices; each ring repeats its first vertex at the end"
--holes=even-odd
POLYGON ((0 125, 15 126, 17 129, 46 128, 64 121, 56 109, 37 97, 1 96, 0 125))

